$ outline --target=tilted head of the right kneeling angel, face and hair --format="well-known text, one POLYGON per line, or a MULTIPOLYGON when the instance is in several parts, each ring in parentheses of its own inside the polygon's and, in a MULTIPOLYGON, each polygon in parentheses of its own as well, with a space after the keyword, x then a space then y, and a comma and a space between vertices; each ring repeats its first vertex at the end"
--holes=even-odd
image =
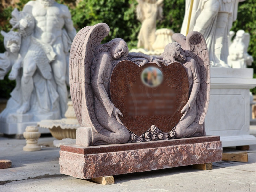
POLYGON ((161 54, 166 63, 180 61, 185 63, 187 61, 184 50, 177 42, 169 43, 165 46, 164 52, 161 54))

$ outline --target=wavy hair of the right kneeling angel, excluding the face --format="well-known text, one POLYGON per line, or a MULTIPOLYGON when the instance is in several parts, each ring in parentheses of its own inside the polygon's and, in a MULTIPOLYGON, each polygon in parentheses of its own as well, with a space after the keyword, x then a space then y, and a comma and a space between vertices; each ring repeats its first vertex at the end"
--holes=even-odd
POLYGON ((169 43, 165 46, 164 52, 161 54, 165 63, 171 63, 176 61, 175 54, 181 48, 180 44, 177 42, 169 43))

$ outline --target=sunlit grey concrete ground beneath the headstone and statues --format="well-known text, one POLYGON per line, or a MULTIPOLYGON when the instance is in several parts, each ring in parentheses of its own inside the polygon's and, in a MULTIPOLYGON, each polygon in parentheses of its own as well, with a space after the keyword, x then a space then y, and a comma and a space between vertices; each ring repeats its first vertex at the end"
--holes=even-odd
MULTIPOLYGON (((191 166, 116 175, 114 185, 100 185, 90 180, 60 174, 59 151, 52 137, 39 139, 41 151, 23 151, 25 140, 0 136, 0 159, 12 161, 9 169, 0 169, 0 192, 34 191, 256 191, 256 145, 248 151, 248 163, 221 161, 213 170, 191 166)), ((224 148, 225 151, 234 148, 224 148)), ((107 169, 107 167, 106 167, 107 169)))

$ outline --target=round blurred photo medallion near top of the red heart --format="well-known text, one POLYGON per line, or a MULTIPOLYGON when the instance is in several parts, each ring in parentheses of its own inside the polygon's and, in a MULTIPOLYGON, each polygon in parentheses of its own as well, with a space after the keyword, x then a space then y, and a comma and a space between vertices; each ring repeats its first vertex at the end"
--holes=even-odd
POLYGON ((141 80, 148 87, 157 87, 163 81, 163 73, 156 67, 147 67, 141 73, 141 80))

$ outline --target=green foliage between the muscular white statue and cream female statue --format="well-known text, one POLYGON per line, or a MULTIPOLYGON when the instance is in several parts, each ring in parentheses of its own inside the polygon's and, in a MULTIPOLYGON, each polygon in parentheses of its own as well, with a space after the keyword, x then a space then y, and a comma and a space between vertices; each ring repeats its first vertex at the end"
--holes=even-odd
POLYGON ((110 33, 104 42, 113 38, 123 38, 134 47, 141 25, 136 20, 136 5, 136 0, 82 0, 71 10, 72 20, 77 30, 88 25, 107 23, 110 33))

